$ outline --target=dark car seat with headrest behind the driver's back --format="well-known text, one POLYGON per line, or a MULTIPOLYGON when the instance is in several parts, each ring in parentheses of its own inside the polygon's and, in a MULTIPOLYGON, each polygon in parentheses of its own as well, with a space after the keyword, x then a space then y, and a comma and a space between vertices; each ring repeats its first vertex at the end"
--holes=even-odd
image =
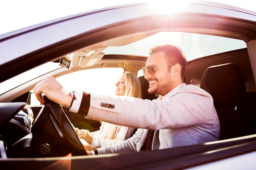
POLYGON ((225 63, 207 68, 200 87, 213 97, 220 120, 220 139, 248 135, 245 78, 238 65, 225 63))

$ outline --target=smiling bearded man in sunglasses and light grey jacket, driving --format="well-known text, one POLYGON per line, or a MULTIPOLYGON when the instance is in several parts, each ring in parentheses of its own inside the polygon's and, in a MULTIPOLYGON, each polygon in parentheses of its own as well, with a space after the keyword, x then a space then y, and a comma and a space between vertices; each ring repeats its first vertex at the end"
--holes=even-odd
POLYGON ((218 140, 220 123, 213 99, 203 89, 183 83, 186 64, 183 52, 176 46, 162 45, 151 49, 142 71, 149 82, 148 92, 159 95, 152 101, 85 92, 71 93, 72 97, 53 77, 39 82, 34 92, 42 104, 41 93, 44 93, 50 100, 88 119, 140 128, 120 144, 95 150, 99 154, 155 150, 218 140))

